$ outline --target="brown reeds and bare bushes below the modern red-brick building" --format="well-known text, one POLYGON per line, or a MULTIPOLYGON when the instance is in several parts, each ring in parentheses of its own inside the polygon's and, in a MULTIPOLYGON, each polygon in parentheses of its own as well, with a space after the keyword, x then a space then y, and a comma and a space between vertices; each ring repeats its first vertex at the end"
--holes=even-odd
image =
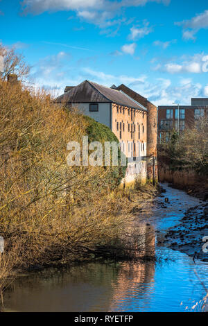
POLYGON ((173 132, 168 144, 158 146, 159 181, 193 193, 208 194, 208 117, 177 135, 173 132))

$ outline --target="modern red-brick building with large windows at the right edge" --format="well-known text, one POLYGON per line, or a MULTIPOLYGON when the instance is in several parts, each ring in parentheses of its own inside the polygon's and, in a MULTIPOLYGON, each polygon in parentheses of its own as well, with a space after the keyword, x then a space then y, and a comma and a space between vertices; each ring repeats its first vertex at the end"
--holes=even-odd
POLYGON ((191 98, 191 105, 166 105, 158 107, 158 136, 160 142, 168 141, 171 132, 193 128, 196 121, 207 115, 208 98, 191 98))

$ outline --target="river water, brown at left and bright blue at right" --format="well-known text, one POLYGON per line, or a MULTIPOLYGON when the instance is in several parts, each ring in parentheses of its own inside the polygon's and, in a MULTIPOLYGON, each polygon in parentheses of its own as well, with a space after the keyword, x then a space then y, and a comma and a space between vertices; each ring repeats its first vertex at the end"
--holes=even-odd
MULTIPOLYGON (((139 215, 156 234, 176 225, 200 200, 163 184, 139 215), (163 195, 163 194, 162 194, 163 195), (159 232, 158 232, 159 231, 159 232)), ((207 234, 208 235, 208 234, 207 234)), ((158 235, 157 235, 158 237, 158 235)), ((157 239, 156 239, 157 243, 157 239)), ((6 311, 200 311, 208 289, 208 263, 156 245, 157 262, 89 263, 51 275, 18 277, 5 295, 6 311), (204 286, 202 285, 204 283, 204 286)))

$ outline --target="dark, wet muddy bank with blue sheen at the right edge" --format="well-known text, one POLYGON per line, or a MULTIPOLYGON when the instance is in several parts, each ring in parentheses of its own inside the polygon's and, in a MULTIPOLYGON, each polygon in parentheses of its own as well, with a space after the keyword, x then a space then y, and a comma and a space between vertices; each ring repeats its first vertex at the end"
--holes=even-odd
MULTIPOLYGON (((168 205, 168 204, 167 204, 168 205)), ((164 239, 160 240, 168 248, 186 253, 194 259, 208 261, 208 254, 203 252, 204 237, 208 236, 208 203, 187 209, 178 225, 170 228, 164 239)))

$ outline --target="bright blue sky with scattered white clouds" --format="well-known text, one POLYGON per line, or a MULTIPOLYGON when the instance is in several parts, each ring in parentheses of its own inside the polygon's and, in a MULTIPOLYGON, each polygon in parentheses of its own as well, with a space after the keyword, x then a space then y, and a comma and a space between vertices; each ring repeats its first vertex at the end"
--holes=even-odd
POLYGON ((88 79, 155 105, 208 97, 205 0, 0 0, 0 27, 30 83, 55 94, 88 79))

